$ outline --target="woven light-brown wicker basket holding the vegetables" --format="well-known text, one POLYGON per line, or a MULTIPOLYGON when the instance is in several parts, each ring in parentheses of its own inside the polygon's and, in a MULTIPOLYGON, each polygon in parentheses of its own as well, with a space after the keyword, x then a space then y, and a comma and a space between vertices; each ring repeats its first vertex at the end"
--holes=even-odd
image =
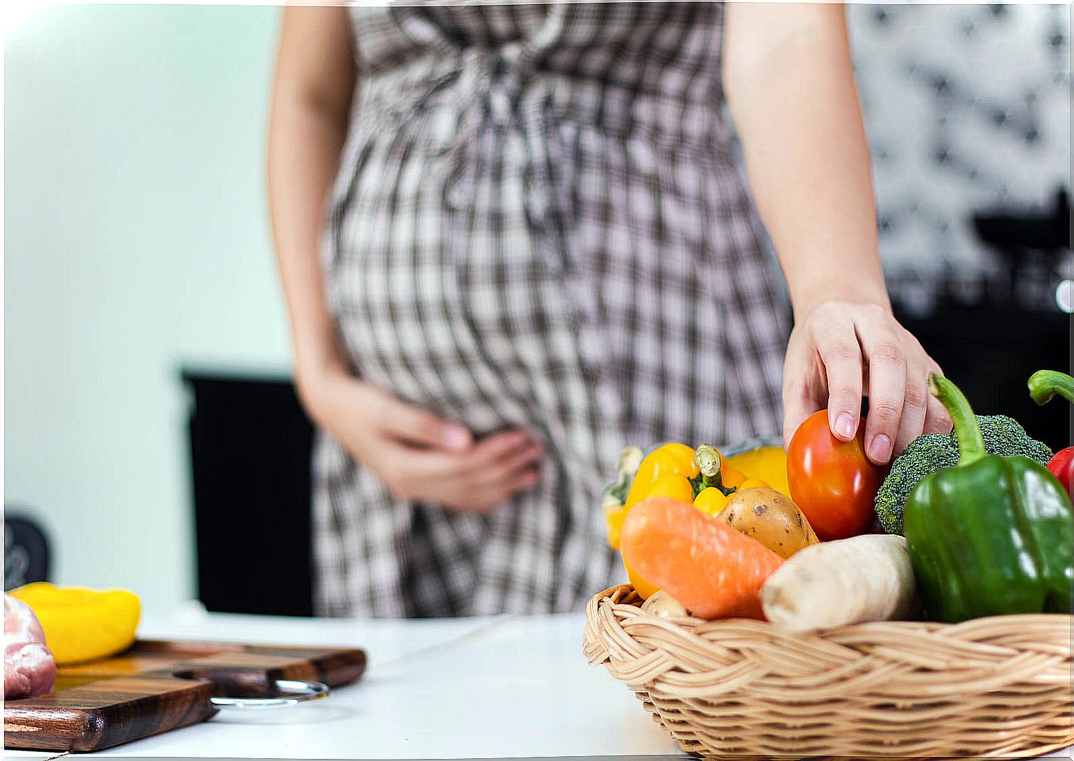
POLYGON ((661 618, 630 586, 585 609, 585 656, 707 758, 1027 758, 1074 743, 1071 616, 786 634, 661 618))

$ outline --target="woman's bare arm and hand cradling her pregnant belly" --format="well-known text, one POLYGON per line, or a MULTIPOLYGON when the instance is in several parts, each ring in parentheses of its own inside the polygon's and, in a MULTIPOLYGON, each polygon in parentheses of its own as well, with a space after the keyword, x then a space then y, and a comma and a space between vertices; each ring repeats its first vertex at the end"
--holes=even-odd
POLYGON ((522 431, 475 444, 465 428, 353 377, 336 345, 318 241, 354 88, 345 8, 287 8, 268 128, 268 201, 291 317, 294 375, 310 417, 396 497, 483 512, 537 483, 522 431))

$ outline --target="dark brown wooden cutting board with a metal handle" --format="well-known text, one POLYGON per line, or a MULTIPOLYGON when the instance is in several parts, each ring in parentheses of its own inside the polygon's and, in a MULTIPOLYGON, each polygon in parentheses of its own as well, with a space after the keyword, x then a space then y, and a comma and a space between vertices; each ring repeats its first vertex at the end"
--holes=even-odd
POLYGON ((360 649, 140 641, 114 658, 61 666, 53 694, 5 701, 3 744, 101 750, 204 721, 218 710, 214 695, 273 697, 277 679, 340 687, 363 671, 360 649))

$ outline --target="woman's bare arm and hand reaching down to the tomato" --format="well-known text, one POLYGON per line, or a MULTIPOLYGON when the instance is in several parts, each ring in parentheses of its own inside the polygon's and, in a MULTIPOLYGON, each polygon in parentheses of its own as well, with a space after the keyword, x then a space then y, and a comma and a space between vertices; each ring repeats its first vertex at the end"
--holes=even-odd
POLYGON ((828 408, 884 463, 923 431, 949 430, 928 393, 935 362, 892 317, 843 6, 727 3, 724 88, 750 185, 790 291, 784 439, 828 408))

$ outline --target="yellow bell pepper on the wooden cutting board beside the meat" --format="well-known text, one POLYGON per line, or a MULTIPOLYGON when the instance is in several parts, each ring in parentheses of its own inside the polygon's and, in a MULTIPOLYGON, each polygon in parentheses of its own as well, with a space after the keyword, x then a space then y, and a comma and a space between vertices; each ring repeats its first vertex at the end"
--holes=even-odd
POLYGON ((57 665, 107 658, 134 644, 141 604, 133 592, 35 581, 10 594, 29 605, 41 621, 57 665))

